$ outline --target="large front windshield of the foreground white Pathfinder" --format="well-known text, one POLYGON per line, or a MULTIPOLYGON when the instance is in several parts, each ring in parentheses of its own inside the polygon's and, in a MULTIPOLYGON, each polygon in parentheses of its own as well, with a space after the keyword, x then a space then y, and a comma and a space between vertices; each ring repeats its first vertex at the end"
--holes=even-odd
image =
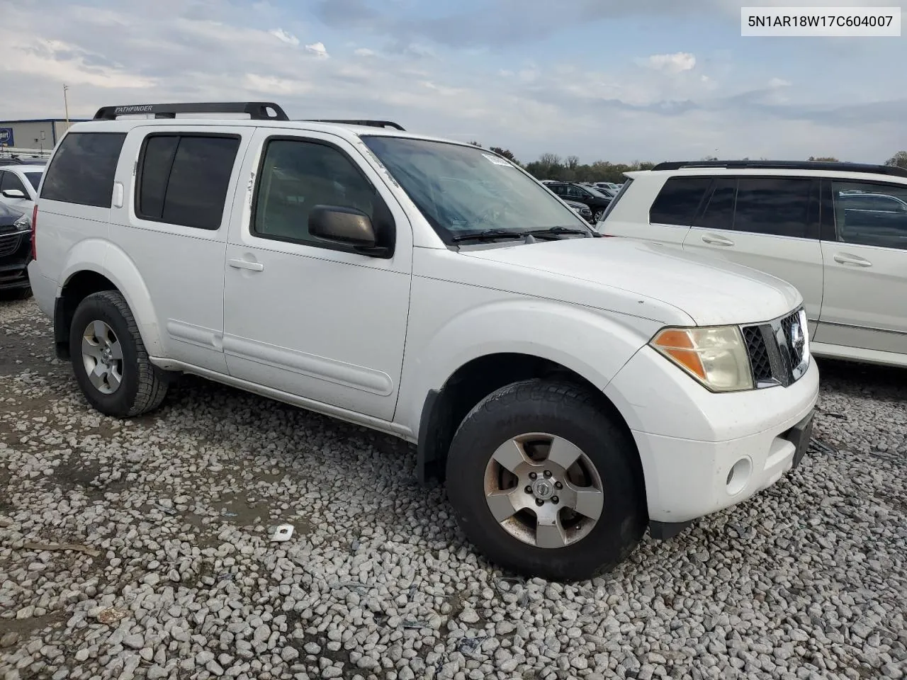
POLYGON ((590 231, 551 191, 480 148, 402 137, 362 140, 447 243, 484 229, 590 231))

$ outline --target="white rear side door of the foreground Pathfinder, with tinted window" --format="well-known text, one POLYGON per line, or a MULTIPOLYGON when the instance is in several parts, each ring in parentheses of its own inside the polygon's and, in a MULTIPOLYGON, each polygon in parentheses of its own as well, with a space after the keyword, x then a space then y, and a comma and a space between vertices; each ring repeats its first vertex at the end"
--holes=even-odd
MULTIPOLYGON (((111 237, 154 303, 171 359, 227 373, 224 257, 239 165, 256 129, 187 123, 133 130, 123 145, 111 237)), ((243 184, 245 186, 245 184, 243 184)))

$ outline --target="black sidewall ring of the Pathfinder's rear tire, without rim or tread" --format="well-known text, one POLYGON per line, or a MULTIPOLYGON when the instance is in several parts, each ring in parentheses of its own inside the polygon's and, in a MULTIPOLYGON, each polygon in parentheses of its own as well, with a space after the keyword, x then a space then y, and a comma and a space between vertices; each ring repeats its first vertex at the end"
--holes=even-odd
POLYGON ((88 296, 76 308, 70 325, 69 346, 76 382, 89 403, 105 415, 128 416, 139 392, 138 354, 128 322, 107 294, 88 296), (122 383, 112 394, 101 393, 94 387, 83 364, 82 337, 85 328, 93 321, 109 325, 122 348, 122 383))

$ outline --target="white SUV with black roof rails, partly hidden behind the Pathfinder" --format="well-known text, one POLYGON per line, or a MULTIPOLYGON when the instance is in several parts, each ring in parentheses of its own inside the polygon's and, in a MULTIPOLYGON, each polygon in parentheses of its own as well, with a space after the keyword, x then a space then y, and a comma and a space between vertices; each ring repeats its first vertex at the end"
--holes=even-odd
POLYGON ((907 366, 907 170, 711 161, 627 175, 601 233, 780 277, 805 297, 814 355, 907 366))

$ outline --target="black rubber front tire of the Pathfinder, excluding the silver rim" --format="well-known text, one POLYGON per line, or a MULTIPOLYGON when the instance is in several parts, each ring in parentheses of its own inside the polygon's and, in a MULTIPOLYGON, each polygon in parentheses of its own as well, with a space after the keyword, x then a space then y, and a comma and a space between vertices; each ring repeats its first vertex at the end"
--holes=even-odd
POLYGON ((631 463, 636 455, 624 432, 588 401, 492 401, 467 416, 453 438, 448 498, 467 538, 501 567, 555 580, 591 578, 625 559, 645 530, 644 495, 631 463), (484 472, 493 452, 527 432, 547 432, 578 446, 602 483, 605 504, 598 523, 561 549, 540 549, 515 539, 494 520, 484 498, 484 472))

